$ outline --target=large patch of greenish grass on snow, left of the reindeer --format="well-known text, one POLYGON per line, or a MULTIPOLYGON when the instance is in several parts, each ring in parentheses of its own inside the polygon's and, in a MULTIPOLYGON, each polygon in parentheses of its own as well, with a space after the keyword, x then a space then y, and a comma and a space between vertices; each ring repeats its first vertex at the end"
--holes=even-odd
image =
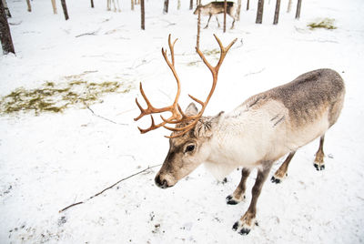
MULTIPOLYGON (((76 78, 76 77, 72 77, 76 78)), ((128 93, 131 85, 118 82, 89 83, 83 79, 72 79, 65 83, 45 82, 34 89, 20 87, 9 95, 0 97, 0 114, 34 112, 61 113, 70 107, 82 107, 101 102, 101 97, 110 93, 128 93)))

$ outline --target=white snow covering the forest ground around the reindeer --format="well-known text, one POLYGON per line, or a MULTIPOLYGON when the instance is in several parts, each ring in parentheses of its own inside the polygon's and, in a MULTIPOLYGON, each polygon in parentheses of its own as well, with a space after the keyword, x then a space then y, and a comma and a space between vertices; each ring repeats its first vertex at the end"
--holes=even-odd
POLYGON ((235 29, 223 34, 212 18, 202 30, 202 50, 217 48, 214 33, 225 45, 238 38, 220 69, 207 115, 230 111, 251 95, 321 67, 337 70, 347 86, 341 117, 327 133, 326 169, 318 172, 312 165, 318 141, 302 147, 288 178, 264 185, 259 225, 246 237, 231 227, 248 208, 255 174, 248 178, 246 202, 237 206, 227 206, 225 197, 236 188, 240 173, 234 171, 222 184, 203 167, 165 190, 155 186, 158 168, 151 168, 86 200, 121 178, 161 164, 167 154, 162 136, 168 132, 140 135, 136 126, 147 127, 148 118, 137 123, 133 118, 140 81, 156 106, 173 99, 175 80, 160 53, 169 33, 178 38, 181 104, 190 102, 187 93, 205 97, 211 82, 194 49, 197 16, 188 10, 189 1, 181 1, 180 10, 177 1, 170 1, 167 15, 162 15, 163 1, 147 1, 146 31, 140 30, 139 6, 131 11, 125 2, 115 13, 106 11, 106 1, 95 0, 95 9, 86 1, 67 1, 70 19, 65 21, 59 3, 54 15, 50 1, 31 2, 32 13, 24 2, 7 1, 16 56, 0 55, 0 96, 19 86, 62 83, 86 71, 95 71, 83 76, 89 82, 126 82, 133 89, 91 107, 116 123, 80 108, 0 117, 0 243, 364 242, 364 2, 304 1, 301 18, 295 20, 294 7, 288 14, 288 1, 282 1, 279 24, 272 25, 275 1, 267 1, 263 25, 255 25, 257 1, 251 1, 248 12, 243 1, 235 29), (326 17, 334 18, 338 28, 307 27, 326 17), (94 35, 80 36, 86 33, 94 35))

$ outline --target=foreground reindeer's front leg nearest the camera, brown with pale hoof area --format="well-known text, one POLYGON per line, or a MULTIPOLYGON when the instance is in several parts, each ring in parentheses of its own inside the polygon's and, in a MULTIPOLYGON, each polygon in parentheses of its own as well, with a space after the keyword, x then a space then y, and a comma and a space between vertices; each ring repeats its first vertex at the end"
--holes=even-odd
POLYGON ((247 212, 235 222, 233 229, 238 230, 240 235, 248 235, 250 229, 255 224, 256 213, 257 213, 257 201, 260 195, 261 188, 266 181, 270 168, 272 168, 273 161, 262 162, 262 168, 258 168, 258 174, 256 183, 251 189, 252 198, 247 212))

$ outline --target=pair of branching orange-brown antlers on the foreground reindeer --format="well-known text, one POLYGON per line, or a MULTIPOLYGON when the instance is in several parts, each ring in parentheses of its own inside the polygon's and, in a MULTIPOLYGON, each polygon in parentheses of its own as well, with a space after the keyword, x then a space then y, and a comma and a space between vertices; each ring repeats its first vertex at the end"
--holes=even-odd
POLYGON ((215 91, 215 88, 216 88, 216 85, 217 85, 218 70, 219 70, 220 66, 222 65, 222 62, 224 61, 225 56, 227 55, 227 51, 237 41, 237 38, 236 38, 227 47, 224 47, 221 44, 221 41, 217 38, 217 36, 216 35, 214 35, 214 36, 215 36, 215 38, 217 40, 218 46, 220 47, 220 58, 219 58, 216 66, 211 66, 207 62, 207 59, 203 55, 203 53, 196 47, 198 55, 201 57, 202 61, 205 63, 205 65, 211 71, 213 82, 212 82, 211 90, 210 90, 205 102, 202 102, 201 100, 197 99, 196 97, 188 95, 189 97, 191 97, 191 99, 193 99, 199 105, 201 105, 201 110, 195 116, 185 115, 183 113, 181 107, 179 107, 179 105, 178 105, 178 98, 179 98, 179 95, 180 95, 181 86, 180 86, 179 77, 177 76, 177 72, 176 72, 176 68, 175 68, 174 46, 175 46, 175 43, 176 43, 177 39, 173 42, 173 44, 171 44, 170 35, 168 36, 168 45, 169 45, 169 49, 170 49, 170 53, 171 53, 172 62, 170 62, 168 60, 167 51, 165 51, 163 48, 162 48, 162 55, 164 56, 164 58, 165 58, 165 60, 167 62, 167 65, 169 66, 169 68, 171 69, 173 75, 175 76, 175 78, 177 80, 177 95, 176 95, 174 103, 171 106, 156 108, 156 107, 153 107, 150 104, 149 100, 147 99, 146 94, 144 93, 142 84, 140 83, 140 93, 144 97, 144 99, 146 100, 147 108, 144 109, 143 107, 141 107, 140 104, 137 102, 137 99, 136 99, 136 105, 140 109, 140 115, 138 117, 136 117, 134 120, 138 120, 139 118, 144 117, 146 115, 150 115, 151 120, 152 120, 152 125, 150 127, 148 127, 147 129, 142 129, 142 128, 138 127, 141 133, 147 133, 148 131, 156 129, 158 127, 165 127, 167 129, 175 132, 174 134, 172 134, 172 136, 168 137, 168 138, 173 138, 173 137, 180 137, 180 136, 185 135, 189 130, 191 130, 193 127, 196 126, 196 124, 198 122, 198 119, 200 117, 202 117, 202 115, 203 115, 203 113, 205 111, 205 108, 207 107, 208 101, 210 100, 212 94, 215 91), (164 117, 161 116, 163 122, 156 125, 152 114, 162 113, 162 112, 171 112, 172 115, 171 115, 171 117, 169 117, 167 119, 165 119, 164 117), (179 124, 179 123, 188 123, 188 122, 191 122, 191 123, 189 123, 186 127, 167 127, 166 126, 166 124, 179 124))

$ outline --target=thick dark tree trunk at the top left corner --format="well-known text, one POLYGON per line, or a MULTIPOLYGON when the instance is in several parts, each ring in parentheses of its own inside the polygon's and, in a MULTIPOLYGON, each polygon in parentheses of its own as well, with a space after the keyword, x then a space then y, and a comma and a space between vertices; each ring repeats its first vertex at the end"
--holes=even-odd
POLYGON ((0 1, 0 41, 1 46, 3 46, 3 53, 5 55, 8 53, 15 54, 13 40, 10 33, 9 23, 7 23, 3 1, 0 1))

